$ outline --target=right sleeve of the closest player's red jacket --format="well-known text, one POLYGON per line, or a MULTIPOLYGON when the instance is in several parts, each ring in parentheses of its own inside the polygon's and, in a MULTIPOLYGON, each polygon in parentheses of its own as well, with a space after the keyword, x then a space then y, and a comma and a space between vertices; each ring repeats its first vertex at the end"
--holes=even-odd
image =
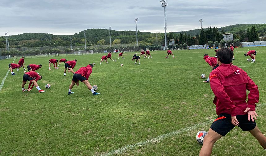
POLYGON ((259 89, 253 80, 247 75, 246 89, 249 91, 247 107, 250 108, 249 111, 255 111, 256 103, 259 102, 259 89))

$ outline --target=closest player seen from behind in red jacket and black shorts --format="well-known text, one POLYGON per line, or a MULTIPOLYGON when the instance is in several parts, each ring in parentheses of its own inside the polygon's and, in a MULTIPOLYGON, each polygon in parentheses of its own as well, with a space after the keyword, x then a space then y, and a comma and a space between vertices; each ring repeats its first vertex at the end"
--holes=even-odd
POLYGON ((211 155, 213 144, 235 126, 249 131, 266 149, 266 137, 254 120, 257 119, 255 107, 259 102, 258 86, 244 70, 232 65, 232 50, 223 48, 216 56, 219 67, 210 74, 210 86, 215 95, 213 103, 216 105, 218 117, 204 137, 199 156, 211 155), (249 90, 248 100, 246 90, 249 90))

